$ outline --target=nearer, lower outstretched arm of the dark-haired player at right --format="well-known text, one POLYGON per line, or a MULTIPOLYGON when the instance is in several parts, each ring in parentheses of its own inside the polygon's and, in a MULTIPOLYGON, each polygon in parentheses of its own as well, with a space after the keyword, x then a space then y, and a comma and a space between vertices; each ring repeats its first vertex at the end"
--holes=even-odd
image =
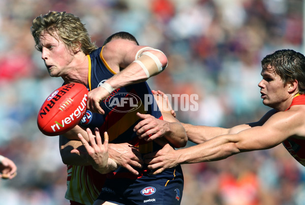
POLYGON ((149 164, 149 169, 156 170, 154 174, 158 174, 165 168, 177 164, 216 161, 240 152, 269 149, 290 136, 304 138, 303 123, 300 112, 290 110, 276 113, 262 126, 254 126, 234 134, 220 135, 186 149, 173 150, 169 146, 164 146, 164 150, 145 155, 145 163, 149 164))

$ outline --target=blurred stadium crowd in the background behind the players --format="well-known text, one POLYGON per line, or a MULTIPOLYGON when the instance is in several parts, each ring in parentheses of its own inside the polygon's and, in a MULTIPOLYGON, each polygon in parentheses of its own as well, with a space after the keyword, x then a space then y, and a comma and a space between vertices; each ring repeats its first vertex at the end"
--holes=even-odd
MULTIPOLYGON (((198 111, 176 109, 182 122, 230 127, 268 108, 260 60, 278 49, 302 50, 300 0, 2 0, 0 2, 0 153, 18 166, 0 180, 0 205, 68 204, 58 138, 37 128, 43 100, 62 84, 50 78, 29 31, 49 11, 79 16, 101 46, 117 31, 161 49, 168 68, 148 81, 169 94, 198 94, 198 111)), ((192 144, 188 144, 192 146, 192 144)), ((302 205, 305 167, 282 145, 219 162, 182 165, 181 204, 302 205)))

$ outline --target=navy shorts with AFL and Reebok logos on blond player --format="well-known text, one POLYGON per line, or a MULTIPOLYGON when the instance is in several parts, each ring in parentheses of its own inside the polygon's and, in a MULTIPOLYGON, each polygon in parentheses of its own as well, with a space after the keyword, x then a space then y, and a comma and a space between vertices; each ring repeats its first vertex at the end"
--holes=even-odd
POLYGON ((184 177, 179 165, 159 175, 145 174, 136 180, 106 179, 98 199, 124 205, 179 205, 183 187, 184 177))

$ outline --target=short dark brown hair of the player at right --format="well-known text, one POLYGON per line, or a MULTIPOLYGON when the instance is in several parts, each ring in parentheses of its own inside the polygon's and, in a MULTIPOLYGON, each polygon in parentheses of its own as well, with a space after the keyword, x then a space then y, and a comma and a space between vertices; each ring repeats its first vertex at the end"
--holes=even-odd
POLYGON ((263 70, 275 69, 275 73, 281 77, 284 85, 297 80, 299 93, 305 93, 305 56, 303 54, 290 49, 278 50, 264 57, 261 63, 263 70))

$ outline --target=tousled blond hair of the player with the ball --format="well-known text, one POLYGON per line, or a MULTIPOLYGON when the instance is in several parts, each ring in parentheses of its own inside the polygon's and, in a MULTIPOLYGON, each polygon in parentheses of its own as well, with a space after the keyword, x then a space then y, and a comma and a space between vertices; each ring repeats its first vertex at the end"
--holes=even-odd
POLYGON ((84 24, 70 13, 52 11, 44 16, 40 15, 33 20, 31 32, 35 48, 39 51, 42 51, 39 38, 45 32, 53 37, 57 34, 57 40, 62 41, 72 51, 81 46, 81 50, 87 55, 97 49, 95 43, 91 42, 84 24))

